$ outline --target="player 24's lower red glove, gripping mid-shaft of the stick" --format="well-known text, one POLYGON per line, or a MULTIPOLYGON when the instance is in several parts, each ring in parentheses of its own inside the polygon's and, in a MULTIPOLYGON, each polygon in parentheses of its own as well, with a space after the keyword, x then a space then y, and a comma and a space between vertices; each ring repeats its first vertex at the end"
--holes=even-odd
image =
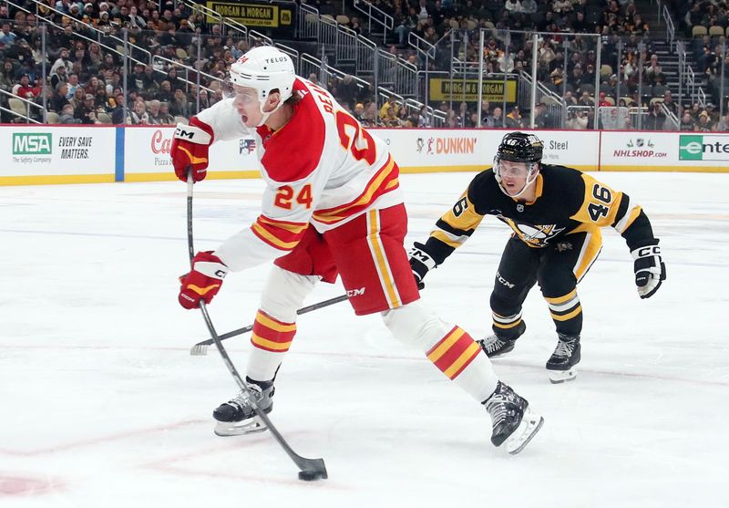
POLYGON ((196 308, 200 300, 210 304, 212 297, 221 289, 222 279, 228 267, 212 251, 195 254, 192 258, 192 271, 180 277, 180 306, 196 308))

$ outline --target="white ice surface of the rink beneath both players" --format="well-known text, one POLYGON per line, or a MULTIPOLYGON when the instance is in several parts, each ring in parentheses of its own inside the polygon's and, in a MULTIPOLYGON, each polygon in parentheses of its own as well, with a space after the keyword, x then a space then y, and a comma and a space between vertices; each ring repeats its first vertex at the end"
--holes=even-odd
MULTIPOLYGON (((528 330, 495 360, 546 422, 509 456, 486 411, 379 316, 346 304, 301 316, 272 420, 330 479, 305 483, 268 433, 213 435, 237 390, 200 312, 177 303, 188 266, 181 182, 0 188, 0 506, 26 507, 726 507, 729 505, 729 175, 595 173, 642 203, 668 280, 633 285, 621 237, 603 230, 579 286, 577 380, 550 385, 556 344, 538 289, 528 330)), ((407 246, 473 173, 403 175, 407 246)), ((196 249, 259 213, 262 181, 195 188, 196 249)), ((428 275, 424 301, 474 337, 508 228, 487 218, 428 275)), ((252 323, 268 271, 226 278, 210 305, 220 333, 252 323)), ((339 295, 321 285, 307 304, 339 295)), ((248 337, 224 344, 244 370, 248 337)))

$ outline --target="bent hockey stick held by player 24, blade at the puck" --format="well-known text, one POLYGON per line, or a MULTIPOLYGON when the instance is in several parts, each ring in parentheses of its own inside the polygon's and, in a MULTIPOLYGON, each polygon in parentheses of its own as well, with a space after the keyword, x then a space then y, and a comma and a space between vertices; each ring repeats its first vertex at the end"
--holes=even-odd
MULTIPOLYGON (((188 250, 190 251, 190 268, 192 268, 192 258, 195 256, 195 249, 193 248, 192 244, 192 186, 194 181, 192 180, 192 171, 191 169, 188 171, 188 250)), ((241 378, 241 375, 238 373, 238 370, 233 365, 233 362, 231 361, 231 358, 228 356, 228 352, 225 350, 224 347, 222 347, 221 344, 221 338, 218 337, 218 334, 215 331, 215 327, 212 326, 212 321, 210 320, 210 315, 208 314, 208 308, 205 306, 205 302, 200 301, 200 312, 202 313, 203 319, 205 319, 205 325, 207 325, 208 330, 210 331, 210 337, 212 337, 212 341, 215 344, 215 347, 218 347, 218 352, 221 354, 222 361, 225 363, 225 367, 228 368, 228 370, 231 372, 232 377, 235 379, 235 382, 238 384, 238 386, 243 390, 243 394, 246 396, 246 402, 249 403, 255 411, 256 416, 262 420, 263 424, 268 428, 268 430, 271 430, 271 433, 273 434, 273 437, 278 441, 278 443, 281 445, 283 451, 286 451, 286 453, 291 457, 291 460, 298 466, 299 468, 299 479, 305 480, 305 481, 312 481, 312 480, 319 480, 323 479, 325 480, 328 478, 326 473, 326 466, 324 466, 323 459, 305 459, 301 455, 298 455, 295 451, 293 451, 292 447, 289 446, 289 443, 286 442, 286 440, 283 439, 283 436, 279 432, 278 429, 276 429, 271 420, 269 420, 268 415, 264 413, 261 408, 258 407, 258 403, 256 402, 255 397, 252 395, 251 389, 248 388, 248 385, 246 385, 245 381, 241 378)))

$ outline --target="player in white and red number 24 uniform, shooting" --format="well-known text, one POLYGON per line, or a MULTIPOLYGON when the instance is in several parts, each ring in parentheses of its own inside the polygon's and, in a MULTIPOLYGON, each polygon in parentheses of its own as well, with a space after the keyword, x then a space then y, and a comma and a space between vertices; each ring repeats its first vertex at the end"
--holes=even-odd
MULTIPOLYGON (((296 310, 319 281, 337 275, 357 315, 380 313, 395 337, 423 351, 436 368, 488 410, 491 441, 521 451, 543 420, 500 382, 488 356, 460 327, 421 305, 403 242, 407 216, 398 167, 371 135, 323 88, 295 76, 291 58, 256 47, 231 66, 234 97, 190 125, 179 125, 171 156, 186 181, 206 176, 216 140, 252 135, 266 182, 251 226, 201 252, 181 280, 180 305, 199 306, 223 277, 273 261, 252 330, 246 380, 258 405, 272 410, 273 382, 296 333, 296 310)), ((239 395, 214 411, 216 433, 262 430, 239 395)))

